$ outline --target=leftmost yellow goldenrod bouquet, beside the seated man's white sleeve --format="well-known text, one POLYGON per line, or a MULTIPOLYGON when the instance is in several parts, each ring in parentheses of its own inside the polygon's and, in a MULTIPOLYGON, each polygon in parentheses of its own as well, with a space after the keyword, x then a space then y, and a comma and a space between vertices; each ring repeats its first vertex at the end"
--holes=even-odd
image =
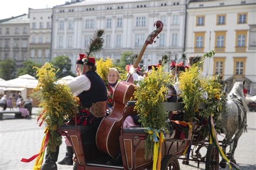
POLYGON ((38 77, 35 96, 40 101, 39 107, 43 108, 38 121, 41 119, 41 124, 44 121, 49 131, 48 151, 55 152, 56 147, 62 144, 62 137, 57 129, 65 123, 66 118, 72 117, 78 111, 78 98, 72 95, 66 84, 56 83, 58 70, 53 65, 46 62, 41 68, 35 68, 38 77))

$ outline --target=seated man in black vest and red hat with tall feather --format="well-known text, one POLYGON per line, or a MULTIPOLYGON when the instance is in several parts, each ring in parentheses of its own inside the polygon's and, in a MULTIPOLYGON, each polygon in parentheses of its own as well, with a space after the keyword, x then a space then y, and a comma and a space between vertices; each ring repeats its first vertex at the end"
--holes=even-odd
MULTIPOLYGON (((95 58, 90 57, 90 54, 92 52, 99 52, 102 49, 103 39, 101 36, 103 33, 103 30, 96 32, 95 37, 91 40, 89 52, 86 53, 87 56, 80 54, 83 64, 79 61, 78 64, 81 64, 82 67, 77 72, 79 70, 82 72, 68 84, 73 95, 79 98, 79 110, 82 112, 80 114, 82 116, 80 117, 82 118, 77 119, 77 123, 90 126, 95 132, 106 115, 107 91, 104 81, 96 73, 95 58)), ((57 169, 56 161, 58 159, 58 152, 59 147, 56 148, 56 152, 46 154, 45 163, 41 168, 42 170, 57 169)), ((71 157, 73 151, 67 150, 67 153, 71 157)))

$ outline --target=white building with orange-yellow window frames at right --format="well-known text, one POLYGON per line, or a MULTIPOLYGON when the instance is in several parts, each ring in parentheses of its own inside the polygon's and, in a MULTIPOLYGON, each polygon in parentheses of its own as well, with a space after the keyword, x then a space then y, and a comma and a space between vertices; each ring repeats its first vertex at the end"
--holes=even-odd
POLYGON ((222 74, 230 85, 246 80, 251 95, 256 95, 256 2, 191 1, 187 8, 187 56, 202 55, 215 49, 206 59, 204 72, 222 74))

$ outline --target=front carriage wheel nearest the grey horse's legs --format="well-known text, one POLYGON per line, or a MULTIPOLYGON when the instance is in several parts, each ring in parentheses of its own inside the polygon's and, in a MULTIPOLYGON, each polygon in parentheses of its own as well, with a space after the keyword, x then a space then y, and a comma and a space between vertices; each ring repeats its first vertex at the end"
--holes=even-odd
POLYGON ((209 145, 207 148, 205 169, 219 169, 219 152, 213 144, 209 145))

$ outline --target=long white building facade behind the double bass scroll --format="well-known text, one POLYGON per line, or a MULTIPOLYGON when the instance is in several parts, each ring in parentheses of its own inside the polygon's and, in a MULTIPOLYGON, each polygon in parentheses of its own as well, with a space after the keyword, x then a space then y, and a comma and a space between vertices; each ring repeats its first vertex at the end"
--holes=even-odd
POLYGON ((79 53, 87 50, 97 29, 104 29, 104 49, 97 57, 120 60, 123 52, 138 54, 145 39, 161 20, 164 29, 149 45, 141 65, 156 64, 163 54, 178 59, 183 53, 185 0, 172 1, 83 1, 55 6, 52 25, 52 57, 69 56, 72 69, 79 53))

